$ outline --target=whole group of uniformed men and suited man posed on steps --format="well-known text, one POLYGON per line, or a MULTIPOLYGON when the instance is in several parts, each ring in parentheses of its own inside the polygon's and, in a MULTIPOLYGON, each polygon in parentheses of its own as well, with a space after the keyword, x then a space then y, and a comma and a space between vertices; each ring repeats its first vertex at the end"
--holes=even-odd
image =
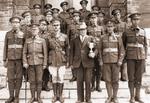
POLYGON ((41 5, 35 4, 32 12, 22 13, 22 18, 16 15, 10 18, 12 29, 5 36, 3 58, 10 97, 5 103, 19 103, 23 77, 30 83, 29 103, 43 103, 41 91, 50 90, 49 81, 54 93, 52 103, 63 103, 63 77, 67 68, 72 69, 70 82, 77 81, 76 103, 92 103, 91 92, 102 91, 101 79, 108 94, 105 103, 119 103, 120 79, 129 81, 129 102, 144 103, 140 88, 147 38, 139 27, 141 14, 131 14, 128 25, 121 20, 120 9, 113 10, 113 18, 106 19, 98 6, 88 11, 87 0, 81 0, 80 4, 82 9, 78 11, 68 8, 68 2, 62 2, 60 13, 58 8, 46 4, 43 15, 41 5))

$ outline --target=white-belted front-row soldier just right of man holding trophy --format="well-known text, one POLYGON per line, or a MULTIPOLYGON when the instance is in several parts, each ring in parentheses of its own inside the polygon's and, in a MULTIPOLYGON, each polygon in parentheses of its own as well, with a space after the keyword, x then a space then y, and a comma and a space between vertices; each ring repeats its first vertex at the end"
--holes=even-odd
POLYGON ((119 71, 124 58, 124 46, 121 36, 114 33, 114 22, 106 23, 106 34, 99 43, 99 60, 103 66, 103 77, 106 83, 108 98, 105 103, 118 103, 119 71))

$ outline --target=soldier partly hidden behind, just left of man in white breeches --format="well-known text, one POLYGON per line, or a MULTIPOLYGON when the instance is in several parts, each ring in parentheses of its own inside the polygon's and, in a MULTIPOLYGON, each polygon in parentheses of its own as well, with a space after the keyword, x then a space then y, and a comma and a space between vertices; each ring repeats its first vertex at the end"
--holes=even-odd
MULTIPOLYGON (((50 36, 50 33, 48 32, 48 22, 46 19, 41 19, 39 21, 39 28, 40 28, 39 36, 46 40, 46 45, 48 47, 48 36, 50 36)), ((48 87, 49 80, 51 81, 51 75, 50 72, 48 71, 48 68, 45 68, 43 71, 42 90, 50 91, 50 88, 48 87)))

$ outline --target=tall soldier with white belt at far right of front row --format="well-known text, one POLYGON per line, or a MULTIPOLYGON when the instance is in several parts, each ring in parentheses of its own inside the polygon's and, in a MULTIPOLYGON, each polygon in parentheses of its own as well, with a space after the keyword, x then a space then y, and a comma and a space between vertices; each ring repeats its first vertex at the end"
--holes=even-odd
POLYGON ((128 86, 130 90, 130 103, 144 103, 140 99, 140 89, 142 74, 145 69, 145 59, 147 58, 147 38, 143 28, 139 27, 140 13, 133 13, 131 27, 123 34, 123 42, 126 49, 128 86))

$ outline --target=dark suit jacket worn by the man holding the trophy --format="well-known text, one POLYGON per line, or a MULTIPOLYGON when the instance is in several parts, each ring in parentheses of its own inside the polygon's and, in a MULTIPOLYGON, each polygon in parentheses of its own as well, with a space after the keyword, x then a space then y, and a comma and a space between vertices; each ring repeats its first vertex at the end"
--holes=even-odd
MULTIPOLYGON (((94 67, 94 59, 88 56, 89 47, 88 43, 93 38, 90 36, 86 36, 84 41, 81 42, 80 36, 72 40, 70 47, 70 59, 69 64, 73 66, 73 68, 79 68, 80 64, 83 64, 85 68, 93 68, 94 67)), ((97 54, 97 49, 95 47, 94 52, 97 54)))

